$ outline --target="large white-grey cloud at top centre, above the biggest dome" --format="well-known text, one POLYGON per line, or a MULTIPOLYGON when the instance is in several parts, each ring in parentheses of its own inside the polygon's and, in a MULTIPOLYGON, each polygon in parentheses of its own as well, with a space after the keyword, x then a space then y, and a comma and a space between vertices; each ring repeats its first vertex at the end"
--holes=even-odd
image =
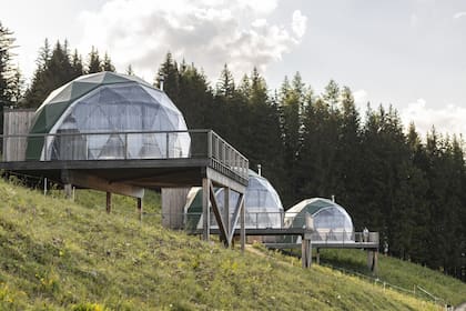
POLYGON ((99 11, 80 16, 80 50, 108 51, 121 71, 153 79, 168 51, 202 67, 216 80, 226 62, 240 77, 256 66, 262 72, 301 42, 306 17, 293 13, 292 28, 267 18, 277 0, 111 0, 99 11))

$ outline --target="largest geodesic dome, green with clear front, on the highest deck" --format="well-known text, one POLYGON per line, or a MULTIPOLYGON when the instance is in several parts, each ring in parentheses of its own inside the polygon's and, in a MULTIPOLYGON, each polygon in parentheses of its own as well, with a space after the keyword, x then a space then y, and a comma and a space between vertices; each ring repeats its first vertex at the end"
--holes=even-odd
POLYGON ((185 158, 191 139, 180 110, 133 77, 99 72, 54 90, 36 112, 27 160, 185 158), (181 131, 181 132, 174 132, 181 131))

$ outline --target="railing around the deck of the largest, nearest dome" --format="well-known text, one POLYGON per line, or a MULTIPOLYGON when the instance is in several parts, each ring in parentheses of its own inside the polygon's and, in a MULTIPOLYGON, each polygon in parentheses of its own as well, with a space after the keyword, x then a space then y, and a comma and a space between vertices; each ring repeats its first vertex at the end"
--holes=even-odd
POLYGON ((212 130, 69 131, 1 138, 2 162, 209 159, 209 165, 213 169, 247 180, 247 159, 212 130), (36 158, 31 158, 30 152, 36 158))

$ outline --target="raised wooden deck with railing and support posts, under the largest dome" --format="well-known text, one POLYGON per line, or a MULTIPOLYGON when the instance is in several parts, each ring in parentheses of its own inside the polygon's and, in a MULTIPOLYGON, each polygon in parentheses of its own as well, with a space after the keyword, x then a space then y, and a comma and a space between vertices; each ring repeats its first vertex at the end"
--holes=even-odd
MULTIPOLYGON (((27 154, 11 157, 11 160, 7 157, 8 159, 0 162, 0 169, 13 174, 48 178, 63 184, 69 192, 71 185, 107 191, 108 212, 111 211, 112 192, 138 198, 138 210, 142 212, 144 188, 202 187, 204 240, 210 239, 210 205, 220 224, 221 240, 226 247, 232 243, 236 224, 244 229, 244 192, 249 182, 249 161, 212 130, 9 134, 2 139, 12 146, 32 142, 32 147, 39 146, 41 149, 34 149, 34 154, 40 154, 40 159, 24 160, 32 158, 26 157, 27 154), (174 143, 181 136, 184 139, 181 142, 182 149, 174 143), (110 137, 119 138, 118 143, 111 146, 114 152, 104 156, 101 156, 102 152, 95 153, 95 149, 91 152, 90 141, 105 141, 110 137), (149 154, 131 154, 131 148, 143 140, 150 141, 148 148, 152 149, 149 154), (152 152, 153 150, 159 152, 152 152), (214 187, 240 193, 231 228, 230 221, 223 220, 224 215, 221 214, 213 194, 214 187)), ((102 151, 104 147, 107 146, 101 146, 99 150, 102 151)), ((22 146, 18 150, 27 150, 27 147, 22 146)), ((229 214, 229 209, 226 213, 229 214)), ((244 250, 244 231, 239 232, 244 250)))

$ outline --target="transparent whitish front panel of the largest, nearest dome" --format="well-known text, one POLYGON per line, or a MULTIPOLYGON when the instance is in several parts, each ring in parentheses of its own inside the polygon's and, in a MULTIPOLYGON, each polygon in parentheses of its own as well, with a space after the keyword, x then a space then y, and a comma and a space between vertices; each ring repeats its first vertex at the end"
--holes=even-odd
MULTIPOLYGON (((50 97, 48 101, 53 101, 50 97)), ((67 136, 50 137, 42 158, 188 158, 191 139, 186 130, 170 98, 142 80, 101 84, 67 108, 50 131, 67 136)))

